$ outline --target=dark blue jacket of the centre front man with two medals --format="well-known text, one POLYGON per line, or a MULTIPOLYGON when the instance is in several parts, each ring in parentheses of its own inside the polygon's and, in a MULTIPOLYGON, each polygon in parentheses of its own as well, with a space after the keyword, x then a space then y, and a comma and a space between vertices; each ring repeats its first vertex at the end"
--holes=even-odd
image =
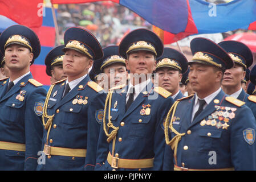
MULTIPOLYGON (((126 89, 128 89, 128 86, 126 89)), ((120 159, 155 158, 152 168, 142 168, 141 170, 162 169, 165 145, 162 121, 164 121, 168 108, 172 106, 173 99, 170 94, 167 98, 159 94, 157 98, 150 99, 149 96, 157 95, 153 89, 152 82, 149 82, 146 90, 148 93, 140 93, 127 111, 125 111, 126 92, 113 93, 111 121, 114 126, 119 127, 115 141, 115 153, 112 154, 113 140, 110 143, 107 142, 103 125, 101 125, 95 170, 113 169, 106 160, 109 152, 111 152, 112 156, 118 154, 120 159), (151 113, 149 115, 141 115, 140 111, 143 109, 143 105, 148 104, 151 105, 151 113)), ((108 113, 108 110, 106 113, 108 113)), ((105 121, 108 123, 108 114, 106 114, 105 121)), ((109 133, 111 130, 109 130, 109 133)), ((118 168, 117 170, 132 169, 118 168)))

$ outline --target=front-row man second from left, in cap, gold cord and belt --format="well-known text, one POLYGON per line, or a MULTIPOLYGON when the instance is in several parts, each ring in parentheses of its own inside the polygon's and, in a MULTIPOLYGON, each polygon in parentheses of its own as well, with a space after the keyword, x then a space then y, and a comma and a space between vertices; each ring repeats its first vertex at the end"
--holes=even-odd
MULTIPOLYGON (((64 33, 64 80, 48 90, 43 108, 45 163, 38 170, 84 170, 87 152, 88 108, 101 90, 88 69, 100 59, 100 43, 89 31, 71 27, 64 33)), ((102 101, 104 103, 104 101, 102 101)))

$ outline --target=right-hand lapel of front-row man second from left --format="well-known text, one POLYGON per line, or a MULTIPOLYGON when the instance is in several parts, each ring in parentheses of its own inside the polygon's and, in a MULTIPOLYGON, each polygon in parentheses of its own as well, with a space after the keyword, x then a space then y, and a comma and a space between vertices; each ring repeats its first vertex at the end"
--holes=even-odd
MULTIPOLYGON (((61 92, 61 96, 58 98, 58 103, 56 104, 56 108, 62 106, 63 104, 66 104, 66 102, 72 100, 72 98, 74 98, 74 96, 78 95, 78 93, 80 92, 80 88, 79 85, 83 85, 83 87, 87 84, 87 82, 89 81, 89 76, 87 75, 82 81, 79 82, 79 84, 77 84, 75 86, 74 89, 72 89, 70 92, 67 93, 67 95, 65 97, 62 98, 62 94, 63 92, 61 92)), ((63 87, 65 88, 65 86, 63 85, 63 87)), ((62 89, 64 89, 62 88, 62 89)))

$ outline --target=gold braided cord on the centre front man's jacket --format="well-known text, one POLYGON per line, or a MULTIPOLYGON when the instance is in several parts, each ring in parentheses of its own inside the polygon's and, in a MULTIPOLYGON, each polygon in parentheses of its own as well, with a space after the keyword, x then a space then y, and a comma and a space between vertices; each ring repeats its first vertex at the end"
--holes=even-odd
POLYGON ((105 101, 105 107, 104 107, 104 115, 103 115, 103 129, 105 132, 105 135, 108 137, 107 142, 111 142, 111 140, 113 138, 116 137, 117 131, 119 130, 119 127, 115 127, 113 125, 113 123, 111 122, 111 117, 110 117, 110 111, 111 111, 111 100, 112 100, 112 94, 113 94, 113 90, 109 90, 106 101, 105 101), (108 104, 109 101, 109 104, 108 104), (106 123, 105 123, 105 114, 106 114, 106 110, 107 110, 107 105, 108 105, 108 129, 109 127, 111 127, 113 129, 113 131, 111 131, 110 134, 108 134, 108 129, 106 127, 106 123))

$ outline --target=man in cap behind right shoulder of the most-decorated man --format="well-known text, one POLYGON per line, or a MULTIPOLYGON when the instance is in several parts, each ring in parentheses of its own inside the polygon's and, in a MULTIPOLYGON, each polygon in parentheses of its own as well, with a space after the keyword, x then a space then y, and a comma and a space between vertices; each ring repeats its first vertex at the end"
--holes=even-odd
POLYGON ((253 63, 253 53, 245 44, 233 40, 220 42, 218 45, 224 48, 234 61, 234 67, 226 69, 222 78, 223 91, 231 97, 245 102, 256 118, 256 97, 247 94, 241 85, 241 80, 246 76, 246 68, 253 63))

